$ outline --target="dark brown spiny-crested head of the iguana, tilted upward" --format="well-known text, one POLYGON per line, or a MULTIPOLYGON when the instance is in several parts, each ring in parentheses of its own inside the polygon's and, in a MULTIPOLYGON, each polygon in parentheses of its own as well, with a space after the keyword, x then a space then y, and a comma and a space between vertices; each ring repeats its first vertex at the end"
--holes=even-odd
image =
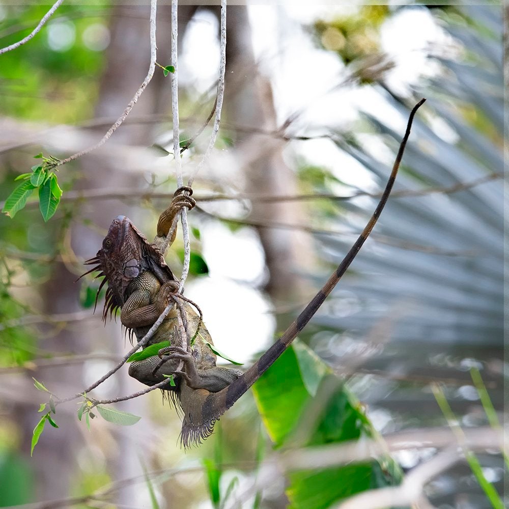
POLYGON ((102 241, 102 248, 94 258, 87 260, 86 265, 95 267, 80 277, 99 271, 97 277, 104 277, 96 295, 99 297, 104 284, 108 283, 104 302, 103 320, 113 314, 125 302, 125 292, 129 283, 145 270, 149 270, 161 281, 161 284, 175 277, 166 265, 162 254, 134 226, 126 216, 117 216, 111 223, 108 234, 102 241))

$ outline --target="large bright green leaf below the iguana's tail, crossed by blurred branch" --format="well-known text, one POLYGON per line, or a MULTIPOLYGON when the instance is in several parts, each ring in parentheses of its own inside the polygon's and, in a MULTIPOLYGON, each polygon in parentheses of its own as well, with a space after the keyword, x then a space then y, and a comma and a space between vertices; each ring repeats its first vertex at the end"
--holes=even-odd
MULTIPOLYGON (((303 343, 296 340, 253 386, 265 427, 276 447, 320 445, 376 435, 362 405, 303 343)), ((290 472, 291 507, 320 509, 371 488, 397 484, 391 459, 290 472)))

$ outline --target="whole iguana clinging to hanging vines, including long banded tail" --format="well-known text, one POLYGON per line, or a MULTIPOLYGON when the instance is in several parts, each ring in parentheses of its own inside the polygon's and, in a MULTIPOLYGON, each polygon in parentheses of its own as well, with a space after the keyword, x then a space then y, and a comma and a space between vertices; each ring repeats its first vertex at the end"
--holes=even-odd
MULTIPOLYGON (((165 379, 163 375, 172 373, 176 375, 177 387, 168 386, 167 389, 176 391, 184 412, 181 440, 185 448, 200 442, 212 433, 215 421, 231 408, 290 346, 346 272, 373 230, 387 202, 410 135, 415 112, 424 102, 425 99, 421 99, 410 113, 406 132, 387 185, 366 227, 346 257, 302 313, 245 373, 215 366, 215 355, 205 343, 205 341, 211 342, 210 336, 189 306, 186 310, 189 314, 188 319, 192 322, 191 333, 194 334, 197 327, 203 327, 201 334, 207 339, 204 341, 199 335, 191 352, 183 348, 182 340, 177 333, 175 312, 166 317, 151 341, 153 344, 162 341, 162 338, 170 338, 172 346, 160 350, 157 356, 131 364, 129 374, 147 385, 162 382, 165 379), (162 365, 161 360, 164 361, 162 365), (183 369, 177 367, 180 362, 183 369)), ((177 194, 172 205, 161 215, 161 218, 165 216, 166 219, 160 218, 161 228, 158 225, 156 239, 167 234, 166 226, 163 227, 163 225, 171 224, 180 208, 190 208, 192 205, 188 197, 177 194)), ((103 317, 106 317, 108 309, 111 312, 115 307, 121 307, 121 322, 134 330, 138 340, 156 321, 167 305, 169 296, 177 288, 176 279, 166 266, 160 251, 154 244, 150 244, 124 216, 114 220, 103 241, 103 249, 88 263, 98 263, 99 265, 92 271, 101 270, 99 276, 104 275, 105 280, 108 281, 103 317), (111 256, 112 247, 115 247, 115 257, 111 256)))

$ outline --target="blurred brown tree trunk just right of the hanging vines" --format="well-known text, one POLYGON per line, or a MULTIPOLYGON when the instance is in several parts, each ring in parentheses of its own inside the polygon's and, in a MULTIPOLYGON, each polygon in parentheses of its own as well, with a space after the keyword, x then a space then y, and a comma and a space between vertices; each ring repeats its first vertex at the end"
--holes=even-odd
MULTIPOLYGON (((278 128, 270 82, 258 69, 246 7, 232 6, 227 16, 227 82, 225 116, 235 125, 274 131, 278 128)), ((284 195, 297 192, 297 179, 282 157, 285 140, 247 132, 236 140, 245 175, 245 192, 284 195)), ((305 224, 299 202, 265 204, 253 201, 250 219, 257 223, 305 224)), ((265 251, 269 279, 265 290, 276 308, 300 304, 308 290, 299 277, 312 263, 309 237, 291 230, 257 227, 265 251)), ((279 326, 284 326, 279 323, 279 326)))

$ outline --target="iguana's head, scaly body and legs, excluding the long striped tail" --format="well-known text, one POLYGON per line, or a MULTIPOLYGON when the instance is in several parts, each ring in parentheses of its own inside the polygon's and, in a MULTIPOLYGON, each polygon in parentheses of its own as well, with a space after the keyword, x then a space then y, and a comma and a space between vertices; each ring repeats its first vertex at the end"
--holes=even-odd
MULTIPOLYGON (((165 240, 163 237, 168 233, 180 209, 191 208, 194 205, 192 199, 189 200, 188 196, 182 195, 182 190, 188 189, 177 190, 172 205, 161 214, 156 237, 157 245, 163 244, 165 240)), ((175 235, 171 242, 174 238, 175 235)), ((97 252, 95 258, 86 262, 97 264, 89 272, 100 271, 96 277, 104 276, 99 291, 105 282, 108 283, 103 319, 106 319, 108 311, 111 315, 120 307, 120 321, 130 333, 134 332, 138 342, 156 322, 172 295, 179 289, 178 281, 166 265, 156 244, 149 243, 129 218, 118 216, 109 227, 102 249, 97 252)), ((168 380, 168 385, 164 389, 171 391, 173 401, 183 409, 181 437, 187 447, 208 436, 212 429, 202 431, 202 428, 196 428, 189 422, 189 418, 186 417, 189 415, 187 403, 194 401, 195 398, 189 395, 182 397, 182 391, 187 389, 188 394, 195 391, 207 394, 217 392, 236 380, 242 372, 216 366, 216 355, 207 344, 213 345, 212 338, 205 325, 187 302, 182 302, 181 308, 186 315, 187 333, 191 338, 195 336, 190 352, 187 352, 187 341, 183 341, 178 310, 174 306, 144 347, 169 341, 171 348, 167 349, 167 352, 170 355, 166 356, 163 362, 157 355, 143 361, 134 361, 129 366, 129 375, 149 386, 164 381, 165 375, 175 375, 175 385, 172 386, 168 380), (186 359, 189 357, 192 362, 186 364, 184 371, 181 371, 184 357, 186 359)))

